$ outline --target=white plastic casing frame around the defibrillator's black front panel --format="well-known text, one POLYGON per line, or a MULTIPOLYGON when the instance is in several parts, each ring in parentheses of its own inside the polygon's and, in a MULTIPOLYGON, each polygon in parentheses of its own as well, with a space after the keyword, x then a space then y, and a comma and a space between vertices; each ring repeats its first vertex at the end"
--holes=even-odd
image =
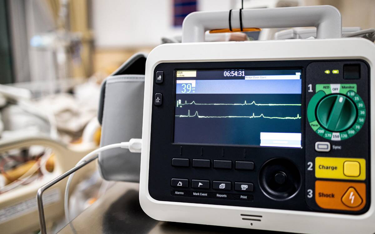
MULTIPOLYGON (((362 38, 274 40, 251 42, 179 43, 157 46, 147 58, 145 71, 144 112, 142 130, 139 201, 144 212, 160 221, 184 222, 294 233, 363 233, 375 232, 375 205, 362 215, 304 212, 197 203, 159 201, 148 192, 150 157, 151 107, 153 105, 153 74, 160 63, 285 61, 362 59, 375 77, 375 45, 362 38), (242 220, 241 214, 262 216, 261 222, 242 220), (253 225, 251 225, 251 223, 253 225)), ((193 65, 192 65, 193 67, 193 65)), ((173 82, 164 80, 164 82, 173 82)), ((370 81, 371 94, 375 82, 370 81)), ((370 121, 375 122, 375 95, 370 95, 370 121)), ((171 107, 172 108, 172 107, 171 107)), ((375 128, 371 127, 371 139, 375 128)), ((169 136, 169 135, 168 135, 169 136)), ((372 140, 373 142, 373 140, 372 140)), ((167 152, 166 152, 167 153, 167 152)), ((375 200, 375 148, 371 147, 371 198, 375 200)), ((163 173, 162 171, 160 173, 163 173)), ((166 181, 165 183, 169 183, 166 181)), ((306 188, 309 189, 309 188, 306 188)), ((301 190, 300 192, 305 192, 301 190)), ((306 198, 309 199, 309 198, 306 198)), ((311 198, 314 199, 314 198, 311 198)), ((256 201, 254 201, 256 202, 256 201)))

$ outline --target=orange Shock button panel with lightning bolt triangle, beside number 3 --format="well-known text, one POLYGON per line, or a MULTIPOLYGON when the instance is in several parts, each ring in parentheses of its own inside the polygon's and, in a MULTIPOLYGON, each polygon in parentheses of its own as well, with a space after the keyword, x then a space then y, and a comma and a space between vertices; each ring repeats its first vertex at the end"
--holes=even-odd
POLYGON ((362 210, 366 205, 366 184, 317 180, 315 202, 323 209, 362 210))

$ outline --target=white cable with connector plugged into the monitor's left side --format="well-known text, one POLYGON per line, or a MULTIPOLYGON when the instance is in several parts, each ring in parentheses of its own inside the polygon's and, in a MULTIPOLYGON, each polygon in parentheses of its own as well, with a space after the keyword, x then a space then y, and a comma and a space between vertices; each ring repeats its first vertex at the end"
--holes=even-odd
MULTIPOLYGON (((142 150, 142 139, 132 138, 129 140, 129 142, 121 142, 121 143, 103 146, 99 149, 96 149, 90 152, 86 156, 84 156, 79 162, 77 162, 77 164, 75 164, 75 166, 78 166, 81 163, 86 162, 90 159, 98 158, 98 154, 100 152, 106 151, 107 149, 115 149, 115 148, 129 149, 129 151, 132 153, 140 153, 142 150)), ((70 222, 68 198, 69 198, 69 186, 72 183, 73 176, 74 176, 74 173, 72 173, 68 177, 68 182, 66 182, 66 186, 65 186, 64 211, 65 211, 65 220, 67 224, 70 222)))

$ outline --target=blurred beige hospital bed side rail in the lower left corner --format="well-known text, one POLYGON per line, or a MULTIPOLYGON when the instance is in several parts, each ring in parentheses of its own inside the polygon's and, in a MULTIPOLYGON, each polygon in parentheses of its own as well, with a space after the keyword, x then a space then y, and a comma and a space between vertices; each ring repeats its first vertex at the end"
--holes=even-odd
MULTIPOLYGON (((68 171, 84 155, 96 148, 95 144, 63 145, 49 137, 20 137, 18 139, 0 141, 0 154, 6 154, 19 149, 30 149, 35 146, 45 148, 45 151, 48 151, 50 154, 47 156, 53 155, 53 171, 38 176, 36 180, 28 185, 19 186, 0 194, 1 233, 30 233, 31 230, 38 230, 39 221, 37 219, 38 212, 35 199, 37 189, 54 177, 68 171)), ((40 161, 34 165, 32 167, 35 170, 40 170, 39 165, 41 167, 45 166, 40 161)), ((33 170, 33 168, 30 169, 33 170)), ((78 171, 78 176, 75 177, 72 184, 75 185, 79 182, 80 178, 90 175, 95 168, 95 164, 90 164, 83 170, 78 171)), ((30 174, 33 175, 34 173, 28 174, 30 176, 30 174)), ((45 215, 49 227, 64 215, 63 197, 65 184, 66 181, 57 183, 45 194, 45 215)))

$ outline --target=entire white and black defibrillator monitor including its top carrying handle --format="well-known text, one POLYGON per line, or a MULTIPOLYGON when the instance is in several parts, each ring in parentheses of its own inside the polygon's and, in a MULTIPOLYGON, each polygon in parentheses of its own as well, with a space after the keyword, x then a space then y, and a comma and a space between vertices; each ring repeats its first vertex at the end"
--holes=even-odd
POLYGON ((374 233, 374 43, 341 38, 330 6, 242 10, 249 27, 316 26, 317 39, 201 42, 227 14, 187 16, 189 43, 147 58, 142 209, 162 221, 374 233))

